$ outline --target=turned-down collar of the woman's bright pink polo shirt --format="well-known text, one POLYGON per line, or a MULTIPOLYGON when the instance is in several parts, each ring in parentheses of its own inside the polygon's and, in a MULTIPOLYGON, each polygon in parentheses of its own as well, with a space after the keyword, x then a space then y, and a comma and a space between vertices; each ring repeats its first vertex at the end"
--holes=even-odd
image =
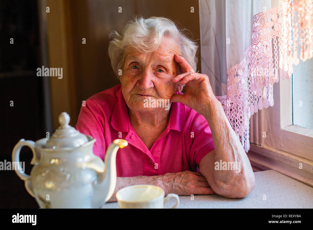
MULTIPOLYGON (((176 92, 178 94, 178 92, 176 92)), ((182 94, 182 93, 180 93, 182 94)), ((120 89, 116 91, 117 103, 115 103, 111 125, 112 127, 119 132, 129 132, 129 116, 127 111, 126 101, 122 94, 121 84, 120 89)), ((184 128, 184 123, 186 121, 185 111, 182 103, 173 102, 171 105, 171 115, 169 120, 169 125, 167 126, 169 129, 177 130, 181 132, 184 128)))

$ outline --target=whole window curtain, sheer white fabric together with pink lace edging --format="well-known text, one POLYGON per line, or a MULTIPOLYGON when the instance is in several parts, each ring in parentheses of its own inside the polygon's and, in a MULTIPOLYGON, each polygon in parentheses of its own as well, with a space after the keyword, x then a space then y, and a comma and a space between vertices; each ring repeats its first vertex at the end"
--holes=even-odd
POLYGON ((199 0, 199 8, 202 73, 248 152, 250 116, 274 105, 273 84, 293 64, 313 57, 313 0, 199 0))

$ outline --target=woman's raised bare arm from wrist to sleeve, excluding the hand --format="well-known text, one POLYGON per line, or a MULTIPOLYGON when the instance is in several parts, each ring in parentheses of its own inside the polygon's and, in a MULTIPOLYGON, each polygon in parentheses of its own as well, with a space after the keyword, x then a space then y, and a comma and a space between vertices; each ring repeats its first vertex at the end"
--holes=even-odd
POLYGON ((202 158, 199 172, 205 176, 213 191, 221 196, 228 198, 248 196, 255 185, 254 173, 221 103, 213 100, 208 105, 204 117, 212 131, 215 150, 202 158), (223 166, 220 165, 221 160, 227 163, 227 170, 220 170, 223 166), (228 167, 230 165, 233 167, 232 170, 228 167))

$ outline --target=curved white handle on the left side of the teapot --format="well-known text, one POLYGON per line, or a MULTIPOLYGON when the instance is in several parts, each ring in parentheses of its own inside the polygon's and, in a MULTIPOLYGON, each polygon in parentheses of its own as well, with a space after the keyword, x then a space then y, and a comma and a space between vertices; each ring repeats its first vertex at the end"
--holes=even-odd
POLYGON ((33 187, 31 185, 30 181, 30 176, 24 171, 21 170, 21 165, 19 161, 19 154, 23 146, 28 146, 32 152, 33 152, 33 159, 31 161, 31 164, 35 164, 36 162, 39 161, 39 157, 36 154, 35 151, 35 142, 33 141, 25 141, 24 139, 21 139, 18 141, 18 143, 14 146, 13 151, 12 151, 12 161, 15 162, 16 164, 13 164, 14 171, 16 174, 23 180, 25 181, 25 188, 27 192, 32 196, 35 197, 33 187), (17 168, 16 168, 16 167, 17 168))

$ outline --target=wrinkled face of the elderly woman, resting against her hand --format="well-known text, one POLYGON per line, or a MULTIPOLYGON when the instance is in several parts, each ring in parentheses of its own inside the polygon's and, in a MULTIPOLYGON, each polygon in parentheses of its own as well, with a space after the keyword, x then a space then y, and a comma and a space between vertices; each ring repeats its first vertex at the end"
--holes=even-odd
POLYGON ((174 60, 178 46, 170 38, 163 38, 156 51, 141 53, 127 50, 120 81, 127 106, 132 110, 153 112, 164 108, 145 108, 145 99, 170 99, 182 86, 172 83, 180 66, 174 60), (178 86, 178 87, 177 87, 178 86))

